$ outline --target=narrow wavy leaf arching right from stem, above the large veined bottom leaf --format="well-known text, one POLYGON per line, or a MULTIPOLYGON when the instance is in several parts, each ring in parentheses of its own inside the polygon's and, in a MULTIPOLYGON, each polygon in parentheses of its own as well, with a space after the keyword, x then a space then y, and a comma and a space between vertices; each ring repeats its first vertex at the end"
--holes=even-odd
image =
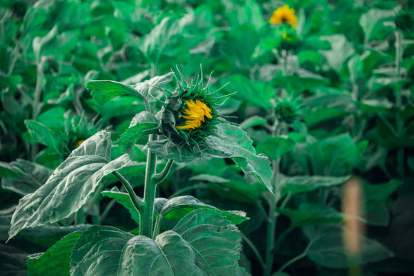
POLYGON ((242 211, 221 211, 215 206, 204 204, 191 195, 177 196, 168 200, 161 209, 160 214, 168 220, 179 220, 195 209, 212 209, 226 217, 233 224, 241 224, 248 220, 242 211))

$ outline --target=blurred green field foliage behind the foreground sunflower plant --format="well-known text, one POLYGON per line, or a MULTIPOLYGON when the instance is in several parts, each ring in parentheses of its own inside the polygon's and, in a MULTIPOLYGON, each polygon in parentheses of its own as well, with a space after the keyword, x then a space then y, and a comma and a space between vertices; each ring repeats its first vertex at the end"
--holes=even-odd
MULTIPOLYGON (((69 267, 73 275, 84 275, 85 267, 70 262, 88 254, 77 240, 87 242, 95 231, 141 246, 133 244, 132 237, 139 218, 128 208, 125 193, 111 190, 121 186, 108 173, 123 167, 121 173, 142 193, 146 140, 137 138, 131 145, 135 132, 128 127, 145 110, 144 103, 121 89, 115 98, 101 97, 98 105, 84 85, 90 79, 135 85, 176 65, 190 81, 199 74, 200 64, 204 76, 213 71, 211 91, 227 83, 217 94, 237 91, 219 112, 233 116, 230 120, 247 132, 257 153, 279 168, 273 213, 277 224, 269 232, 275 198, 266 187, 244 176, 232 160, 212 158, 176 164, 161 183, 159 198, 198 199, 194 203, 184 198, 175 213, 165 213, 164 230, 168 224, 172 229, 177 217, 190 220, 190 211, 202 204, 241 210, 250 220, 235 222, 224 211, 217 215, 196 210, 239 224, 243 249, 237 275, 264 275, 268 248, 273 275, 348 275, 348 267, 355 264, 342 242, 342 198, 344 182, 355 175, 364 192, 359 219, 366 224, 357 264, 363 265, 364 275, 411 275, 413 11, 408 0, 1 1, 2 275, 27 275, 28 270, 30 275, 44 275, 48 255, 56 258, 47 265, 56 271, 64 268, 62 275, 68 275, 69 267), (273 10, 284 4, 296 10, 296 30, 268 23, 273 10), (292 32, 297 40, 284 40, 284 32, 292 32), (275 122, 283 123, 279 132, 275 122), (64 162, 80 142, 103 129, 118 143, 112 148, 100 145, 104 150, 97 146, 97 154, 74 156, 79 158, 76 166, 64 162), (133 167, 123 159, 127 148, 133 167), (86 164, 105 167, 88 171, 86 164), (68 210, 65 220, 53 220, 53 208, 65 209, 66 202, 45 209, 47 213, 39 210, 37 219, 53 223, 16 232, 5 244, 23 195, 60 194, 56 189, 68 176, 58 184, 48 180, 59 165, 86 171, 81 187, 89 187, 90 197, 75 202, 81 211, 72 215, 68 210), (96 173, 100 182, 95 181, 96 173), (91 224, 95 226, 88 228, 91 224), (115 237, 121 235, 114 234, 115 227, 132 234, 115 237)), ((135 131, 141 135, 141 129, 135 131)), ((161 160, 158 167, 163 164, 161 160)), ((37 207, 33 204, 32 212, 37 207)), ((223 227, 233 231, 235 226, 223 227)), ((168 231, 161 235, 156 242, 176 238, 168 231)), ((105 246, 110 245, 103 242, 105 246)), ((188 257, 187 251, 180 254, 188 257)), ((123 262, 126 271, 118 271, 120 275, 128 274, 132 264, 141 267, 136 257, 123 262)), ((197 273, 194 269, 188 273, 197 273)))

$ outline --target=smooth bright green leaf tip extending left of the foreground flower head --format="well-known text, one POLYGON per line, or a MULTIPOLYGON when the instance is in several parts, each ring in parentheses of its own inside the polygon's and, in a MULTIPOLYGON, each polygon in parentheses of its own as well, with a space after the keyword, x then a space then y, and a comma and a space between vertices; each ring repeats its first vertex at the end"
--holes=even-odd
POLYGON ((122 95, 135 95, 139 98, 145 99, 144 96, 139 94, 137 89, 125 83, 119 83, 117 81, 88 81, 85 85, 86 89, 92 90, 90 93, 99 105, 103 105, 108 100, 122 95))

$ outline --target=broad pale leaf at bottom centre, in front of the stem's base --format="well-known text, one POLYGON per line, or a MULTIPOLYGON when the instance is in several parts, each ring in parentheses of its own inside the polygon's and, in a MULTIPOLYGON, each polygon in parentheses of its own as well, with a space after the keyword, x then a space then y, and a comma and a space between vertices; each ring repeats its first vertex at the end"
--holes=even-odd
POLYGON ((204 275, 195 264, 195 252, 181 235, 166 231, 155 240, 132 237, 122 251, 119 276, 197 276, 204 275))

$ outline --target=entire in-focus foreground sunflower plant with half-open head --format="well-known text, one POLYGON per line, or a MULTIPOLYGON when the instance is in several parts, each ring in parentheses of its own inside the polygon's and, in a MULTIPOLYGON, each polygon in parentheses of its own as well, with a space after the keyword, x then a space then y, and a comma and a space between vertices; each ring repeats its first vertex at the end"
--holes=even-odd
POLYGON ((175 162, 220 157, 233 159, 270 189, 270 161, 255 152, 242 129, 219 115, 222 99, 209 92, 203 76, 189 84, 175 78, 174 91, 163 88, 174 78, 172 72, 135 85, 86 83, 99 104, 115 96, 133 95, 144 102, 146 110, 132 118, 115 142, 108 131, 99 131, 79 143, 45 184, 20 200, 9 240, 23 229, 81 212, 90 196, 100 191, 101 180, 111 173, 124 191, 113 187, 101 194, 126 207, 139 227, 125 231, 92 225, 72 232, 43 255, 30 255, 29 273, 46 271, 49 266, 44 264, 52 262, 59 267, 59 275, 248 275, 239 266, 242 238, 236 226, 248 220, 246 213, 223 211, 188 195, 156 198, 157 185, 175 162), (139 196, 121 169, 140 165, 134 148, 145 137, 144 195, 139 196), (113 147, 124 154, 111 157, 113 147))

